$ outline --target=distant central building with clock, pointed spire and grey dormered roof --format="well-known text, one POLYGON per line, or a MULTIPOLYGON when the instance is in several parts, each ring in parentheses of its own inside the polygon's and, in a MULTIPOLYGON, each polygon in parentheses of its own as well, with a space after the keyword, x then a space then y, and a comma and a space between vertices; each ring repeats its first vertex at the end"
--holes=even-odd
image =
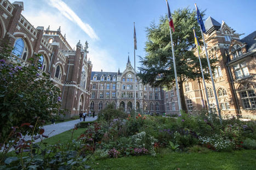
POLYGON ((126 69, 118 72, 92 72, 89 110, 100 112, 107 104, 115 104, 115 108, 121 108, 129 113, 135 109, 134 95, 136 95, 136 110, 141 113, 164 112, 163 90, 160 87, 143 85, 139 78, 134 80, 134 68, 130 64, 129 56, 126 69), (134 86, 134 81, 136 86, 134 86), (136 94, 134 93, 136 88, 136 94))

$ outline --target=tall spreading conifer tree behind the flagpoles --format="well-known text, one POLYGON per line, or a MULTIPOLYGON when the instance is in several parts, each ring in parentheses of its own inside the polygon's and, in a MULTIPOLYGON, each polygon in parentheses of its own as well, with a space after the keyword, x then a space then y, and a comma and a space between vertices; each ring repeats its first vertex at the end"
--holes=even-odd
MULTIPOLYGON (((183 83, 187 80, 196 80, 202 77, 198 57, 194 55, 196 48, 194 44, 195 29, 198 39, 201 39, 200 27, 197 25, 196 12, 188 8, 178 9, 172 15, 175 32, 173 32, 174 55, 177 68, 177 77, 180 90, 181 108, 185 111, 186 103, 183 91, 183 83)), ((175 86, 175 75, 173 69, 172 46, 170 44, 169 22, 167 15, 160 17, 160 22, 154 22, 146 28, 146 56, 140 58, 141 73, 138 76, 144 84, 151 86, 163 86, 166 89, 175 86)), ((206 57, 201 57, 204 69, 207 69, 206 57)), ((216 60, 212 59, 211 63, 216 60)), ((214 69, 214 66, 212 66, 214 69)), ((209 79, 209 73, 204 77, 209 79)))

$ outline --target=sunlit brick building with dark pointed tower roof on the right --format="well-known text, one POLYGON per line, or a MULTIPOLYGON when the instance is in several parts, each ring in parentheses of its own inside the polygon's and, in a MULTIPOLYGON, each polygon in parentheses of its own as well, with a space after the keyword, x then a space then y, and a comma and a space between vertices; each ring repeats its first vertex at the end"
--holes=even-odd
MULTIPOLYGON (((256 31, 240 39, 242 34, 236 33, 226 22, 223 21, 220 24, 212 17, 208 17, 205 27, 204 37, 206 38, 208 55, 218 59, 217 69, 213 71, 213 77, 221 114, 255 119, 256 31)), ((200 55, 205 57, 205 49, 202 49, 200 55)), ((209 108, 212 112, 217 112, 217 103, 211 81, 206 81, 206 89, 209 108)), ((206 107, 207 99, 202 79, 184 83, 184 92, 189 112, 206 107)), ((169 93, 171 91, 165 93, 164 103, 166 103, 167 113, 173 114, 175 112, 170 108, 168 109, 167 104, 172 104, 167 96, 169 93)), ((178 103, 175 104, 178 108, 178 103)))

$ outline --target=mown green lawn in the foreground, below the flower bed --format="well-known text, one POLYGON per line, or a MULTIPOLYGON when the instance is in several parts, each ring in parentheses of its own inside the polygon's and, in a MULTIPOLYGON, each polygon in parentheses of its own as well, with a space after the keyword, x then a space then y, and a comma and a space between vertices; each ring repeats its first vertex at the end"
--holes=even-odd
POLYGON ((98 160, 91 163, 92 169, 256 169, 256 150, 232 152, 168 153, 156 157, 133 156, 118 159, 98 160))

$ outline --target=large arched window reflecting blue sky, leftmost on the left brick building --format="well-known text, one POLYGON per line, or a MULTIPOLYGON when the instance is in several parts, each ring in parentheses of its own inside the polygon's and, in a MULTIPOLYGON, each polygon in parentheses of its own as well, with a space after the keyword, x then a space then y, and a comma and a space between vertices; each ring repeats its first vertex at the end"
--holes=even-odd
POLYGON ((12 53, 26 61, 28 54, 27 45, 22 38, 16 40, 12 53))

